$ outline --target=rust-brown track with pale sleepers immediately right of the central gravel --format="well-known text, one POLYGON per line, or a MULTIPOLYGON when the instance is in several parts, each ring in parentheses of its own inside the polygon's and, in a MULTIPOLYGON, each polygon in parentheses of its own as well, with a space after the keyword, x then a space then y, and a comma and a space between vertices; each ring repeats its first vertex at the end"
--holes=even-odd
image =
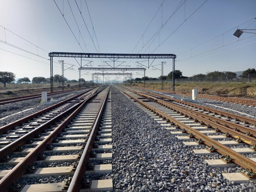
MULTIPOLYGON (((184 144, 204 144, 208 146, 204 150, 196 151, 197 153, 205 155, 211 153, 216 154, 218 152, 224 156, 220 161, 206 161, 207 163, 215 163, 215 166, 234 166, 235 164, 238 164, 246 170, 246 172, 243 173, 224 174, 224 177, 229 180, 233 179, 232 181, 237 181, 239 179, 240 181, 256 181, 256 158, 250 159, 241 154, 256 152, 255 120, 251 120, 251 123, 254 125, 249 125, 248 122, 245 124, 237 122, 230 117, 227 118, 223 115, 220 116, 214 112, 212 113, 209 109, 206 111, 191 106, 191 104, 188 103, 186 103, 187 106, 185 106, 182 102, 173 102, 172 98, 163 98, 162 95, 149 92, 143 93, 142 91, 132 89, 119 89, 132 99, 138 101, 140 105, 147 108, 148 113, 154 116, 162 126, 168 127, 166 129, 172 131, 173 134, 185 135, 177 136, 178 139, 193 141, 184 142, 184 144), (233 121, 233 123, 230 121, 233 121), (249 128, 249 126, 251 127, 249 128), (227 138, 234 139, 226 140, 227 138), (225 141, 223 141, 224 139, 225 141), (246 143, 250 147, 235 149, 227 147, 227 145, 239 145, 242 143, 246 143), (239 177, 239 179, 237 179, 237 177, 239 177)), ((211 110, 214 111, 213 109, 211 110)), ((238 116, 235 118, 237 117, 238 116)))

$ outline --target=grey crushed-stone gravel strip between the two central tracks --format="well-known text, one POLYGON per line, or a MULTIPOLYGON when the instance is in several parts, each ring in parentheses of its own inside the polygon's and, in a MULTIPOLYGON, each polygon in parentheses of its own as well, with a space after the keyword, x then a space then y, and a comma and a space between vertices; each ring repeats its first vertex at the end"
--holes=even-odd
POLYGON ((169 131, 112 88, 114 191, 255 191, 255 183, 230 183, 169 131))

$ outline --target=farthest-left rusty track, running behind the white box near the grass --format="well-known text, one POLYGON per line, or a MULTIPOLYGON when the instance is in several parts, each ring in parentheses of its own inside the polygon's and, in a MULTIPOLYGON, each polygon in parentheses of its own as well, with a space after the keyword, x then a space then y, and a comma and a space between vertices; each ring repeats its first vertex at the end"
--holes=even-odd
MULTIPOLYGON (((84 89, 88 89, 88 88, 80 88, 80 89, 76 89, 76 90, 84 90, 84 89)), ((48 93, 48 96, 52 96, 52 95, 56 95, 56 94, 60 94, 60 93, 72 92, 72 91, 74 91, 74 90, 48 93)), ((19 101, 23 101, 23 100, 35 99, 35 98, 40 98, 40 97, 41 97, 41 94, 35 94, 35 95, 26 95, 26 96, 14 97, 14 98, 8 98, 8 99, 0 99, 0 105, 19 102, 19 101)))

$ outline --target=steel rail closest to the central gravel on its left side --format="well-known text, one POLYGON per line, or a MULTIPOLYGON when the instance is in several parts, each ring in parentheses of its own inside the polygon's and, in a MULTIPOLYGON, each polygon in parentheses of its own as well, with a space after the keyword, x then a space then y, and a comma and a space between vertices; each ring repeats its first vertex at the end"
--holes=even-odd
POLYGON ((89 161, 89 158, 90 158, 90 152, 92 150, 92 144, 94 142, 94 138, 96 136, 96 132, 97 132, 98 126, 100 124, 100 118, 102 116, 104 107, 105 107, 107 99, 108 99, 109 89, 110 89, 110 87, 108 87, 108 92, 106 94, 106 97, 105 97, 102 105, 101 105, 100 112, 97 116, 95 124, 93 125, 92 132, 91 132, 91 134, 88 138, 88 141, 85 145, 84 151, 83 151, 82 156, 79 160, 79 163, 77 165, 76 171, 75 171, 74 176, 73 176, 73 178, 70 182, 70 185, 68 187, 67 192, 79 192, 80 189, 81 189, 82 179, 83 179, 83 177, 85 175, 85 171, 86 171, 86 164, 87 164, 87 162, 89 161))

